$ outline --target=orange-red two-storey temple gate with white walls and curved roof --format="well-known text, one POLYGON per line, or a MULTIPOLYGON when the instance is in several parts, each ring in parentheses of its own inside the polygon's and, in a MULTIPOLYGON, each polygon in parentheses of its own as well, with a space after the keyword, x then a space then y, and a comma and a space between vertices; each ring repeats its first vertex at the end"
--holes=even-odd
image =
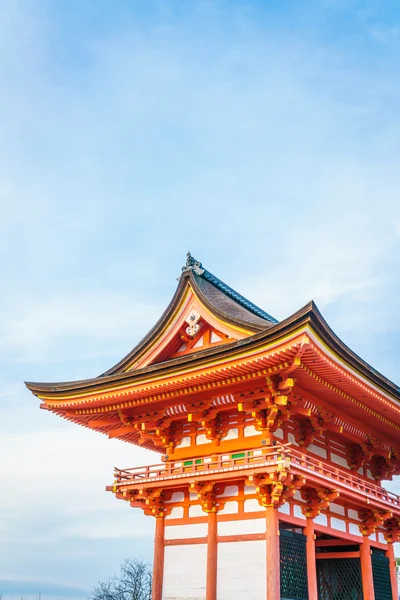
POLYGON ((27 386, 159 454, 107 487, 155 519, 153 600, 398 600, 400 388, 313 302, 278 322, 189 254, 118 364, 27 386))

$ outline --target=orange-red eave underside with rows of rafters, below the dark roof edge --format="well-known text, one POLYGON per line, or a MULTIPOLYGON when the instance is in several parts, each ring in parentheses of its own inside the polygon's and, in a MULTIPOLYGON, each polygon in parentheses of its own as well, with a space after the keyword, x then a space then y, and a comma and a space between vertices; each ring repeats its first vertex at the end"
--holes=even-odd
MULTIPOLYGON (((178 418, 186 419, 193 404, 228 395, 233 395, 237 403, 246 391, 265 387, 266 377, 282 375, 293 369, 300 352, 300 364, 291 371, 296 381, 294 392, 304 397, 310 394, 316 401, 320 399, 333 410, 339 410, 342 417, 338 424, 348 431, 358 430, 360 435, 365 430, 364 438, 368 435, 366 432, 373 431, 386 436, 392 444, 398 444, 400 407, 338 367, 304 334, 264 356, 255 356, 251 361, 232 364, 229 368, 193 373, 190 379, 175 378, 158 387, 137 387, 75 402, 51 399, 46 401, 45 407, 77 424, 137 444, 139 433, 135 430, 127 432, 126 428, 124 431, 127 418, 131 422, 141 421, 146 419, 146 414, 155 412, 157 418, 165 419, 171 417, 171 411, 175 411, 178 418), (122 419, 121 414, 125 415, 122 419), (101 423, 99 427, 96 427, 96 421, 101 423), (113 434, 118 431, 121 433, 113 434)), ((151 441, 142 445, 160 451, 151 441)))

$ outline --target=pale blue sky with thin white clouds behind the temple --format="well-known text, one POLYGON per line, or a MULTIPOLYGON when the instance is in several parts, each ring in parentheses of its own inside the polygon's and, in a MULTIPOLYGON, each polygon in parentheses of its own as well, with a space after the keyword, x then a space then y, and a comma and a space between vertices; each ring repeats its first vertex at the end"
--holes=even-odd
POLYGON ((1 3, 0 592, 84 599, 151 557, 103 490, 157 456, 22 382, 117 362, 188 249, 400 383, 399 65, 397 1, 1 3))

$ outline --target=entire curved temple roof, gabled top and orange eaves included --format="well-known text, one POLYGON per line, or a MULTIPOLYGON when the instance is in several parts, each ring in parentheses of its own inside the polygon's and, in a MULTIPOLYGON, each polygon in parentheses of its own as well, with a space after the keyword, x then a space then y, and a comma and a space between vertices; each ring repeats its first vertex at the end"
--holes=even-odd
MULTIPOLYGON (((200 328, 199 336, 202 331, 200 328)), ((348 348, 330 329, 314 302, 278 322, 190 255, 163 315, 117 365, 92 379, 26 385, 44 400, 43 408, 84 425, 90 417, 80 416, 81 407, 90 414, 91 407, 94 412, 103 410, 102 406, 108 410, 111 405, 119 410, 118 402, 127 398, 132 399, 133 406, 154 401, 154 394, 161 394, 157 396, 160 401, 165 392, 165 397, 182 398, 195 389, 210 387, 210 381, 221 390, 219 393, 224 393, 222 389, 228 385, 225 380, 230 385, 243 377, 265 379, 263 373, 270 372, 265 369, 273 370, 279 362, 294 359, 299 343, 307 347, 295 375, 300 385, 317 394, 325 390, 324 394, 330 394, 329 401, 346 405, 353 418, 367 418, 382 434, 398 440, 400 388, 348 348), (197 315, 200 322, 204 328, 210 326, 219 333, 219 341, 192 346, 188 352, 177 352, 174 346, 168 354, 171 344, 185 338, 191 311, 201 313, 197 315), (256 371, 260 371, 258 375, 256 371), (72 414, 74 406, 76 411, 72 414)))

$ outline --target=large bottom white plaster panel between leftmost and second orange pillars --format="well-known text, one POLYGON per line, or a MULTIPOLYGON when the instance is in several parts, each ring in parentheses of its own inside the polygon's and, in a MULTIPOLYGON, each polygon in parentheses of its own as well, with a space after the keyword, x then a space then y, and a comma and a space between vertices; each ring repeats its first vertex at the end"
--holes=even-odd
POLYGON ((163 600, 204 600, 207 545, 166 546, 163 600))

